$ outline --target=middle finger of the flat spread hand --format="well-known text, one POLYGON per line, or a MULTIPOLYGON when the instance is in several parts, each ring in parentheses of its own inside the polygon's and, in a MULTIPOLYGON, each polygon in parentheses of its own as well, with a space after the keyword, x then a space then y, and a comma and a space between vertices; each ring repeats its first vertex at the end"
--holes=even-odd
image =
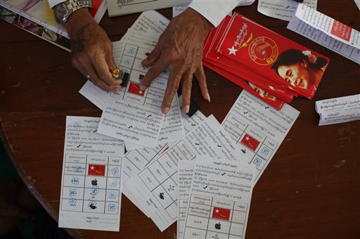
POLYGON ((161 111, 164 114, 169 113, 169 109, 172 106, 172 100, 174 99, 174 95, 179 88, 182 72, 182 67, 174 67, 174 69, 171 69, 169 72, 169 79, 167 80, 167 87, 161 107, 161 111))

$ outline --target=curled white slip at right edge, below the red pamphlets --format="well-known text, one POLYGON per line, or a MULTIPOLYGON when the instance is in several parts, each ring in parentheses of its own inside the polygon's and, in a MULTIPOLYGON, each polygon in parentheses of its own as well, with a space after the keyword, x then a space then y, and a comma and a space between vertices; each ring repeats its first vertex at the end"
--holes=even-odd
POLYGON ((320 125, 332 125, 360 120, 360 94, 315 102, 320 125))

